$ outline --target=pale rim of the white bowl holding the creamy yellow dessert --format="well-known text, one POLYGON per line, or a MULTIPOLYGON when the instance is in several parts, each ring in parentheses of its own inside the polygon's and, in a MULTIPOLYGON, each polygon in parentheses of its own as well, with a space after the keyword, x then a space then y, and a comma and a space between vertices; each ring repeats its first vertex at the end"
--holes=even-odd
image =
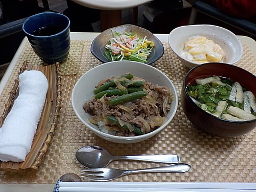
MULTIPOLYGON (((230 31, 230 30, 228 30, 228 29, 226 29, 226 28, 223 28, 223 27, 220 27, 220 26, 216 26, 216 25, 209 25, 209 24, 198 24, 198 25, 179 26, 179 27, 174 28, 173 30, 171 30, 171 32, 170 32, 169 35, 168 35, 168 43, 169 43, 169 45, 170 45, 172 51, 173 51, 178 57, 180 57, 182 60, 185 60, 185 61, 187 61, 187 62, 190 62, 190 63, 192 63, 193 65, 196 65, 196 66, 205 64, 205 63, 197 63, 197 62, 194 62, 194 61, 190 61, 190 60, 188 60, 188 59, 186 59, 186 58, 183 58, 183 57, 181 57, 181 55, 180 55, 180 53, 178 52, 178 50, 173 49, 173 44, 172 44, 172 41, 171 41, 172 34, 173 34, 175 31, 181 30, 181 29, 183 29, 183 28, 195 28, 195 27, 197 27, 197 28, 199 28, 199 27, 214 27, 214 28, 218 28, 218 29, 220 29, 220 30, 226 31, 226 32, 228 32, 230 35, 232 35, 233 37, 235 37, 236 42, 237 42, 237 44, 239 45, 239 48, 241 49, 241 52, 239 52, 239 55, 237 55, 237 59, 236 59, 235 61, 230 62, 230 63, 227 62, 227 63, 228 63, 229 65, 234 65, 236 62, 238 62, 239 60, 241 60, 241 58, 243 57, 243 52, 244 52, 244 51, 243 51, 243 45, 242 45, 241 41, 239 40, 239 38, 238 38, 232 31, 230 31)), ((185 29, 183 29, 183 30, 185 30, 185 29)), ((186 29, 186 30, 188 30, 188 29, 186 29)), ((206 62, 206 63, 215 63, 215 62, 206 62)), ((222 62, 222 63, 223 63, 223 62, 222 62)))

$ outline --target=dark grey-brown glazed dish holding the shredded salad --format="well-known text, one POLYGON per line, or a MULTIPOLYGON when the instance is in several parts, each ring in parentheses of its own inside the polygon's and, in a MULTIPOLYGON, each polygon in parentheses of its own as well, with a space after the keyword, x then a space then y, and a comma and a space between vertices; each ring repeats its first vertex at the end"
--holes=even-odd
POLYGON ((118 33, 134 33, 137 34, 137 36, 140 38, 144 38, 146 36, 148 41, 153 41, 155 46, 152 52, 150 53, 146 64, 150 65, 151 63, 161 58, 162 55, 164 54, 164 47, 162 42, 150 31, 134 25, 122 25, 103 31, 93 40, 91 44, 91 53, 94 55, 95 58, 99 59, 103 63, 111 61, 105 55, 105 45, 108 44, 110 38, 113 37, 111 30, 115 30, 118 33))

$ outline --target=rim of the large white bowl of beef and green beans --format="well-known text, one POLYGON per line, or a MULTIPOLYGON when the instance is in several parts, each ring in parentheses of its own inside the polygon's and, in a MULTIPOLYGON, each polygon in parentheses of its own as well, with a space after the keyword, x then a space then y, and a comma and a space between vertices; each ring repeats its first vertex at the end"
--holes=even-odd
MULTIPOLYGON (((127 65, 127 64, 126 64, 126 65, 127 65)), ((148 64, 146 64, 146 63, 141 63, 141 62, 137 62, 137 61, 110 61, 110 62, 102 63, 102 64, 100 64, 100 65, 98 65, 98 66, 96 66, 96 67, 93 67, 93 68, 87 70, 86 73, 84 73, 81 77, 78 78, 78 80, 77 80, 75 86, 73 87, 73 91, 72 91, 72 93, 71 93, 71 105, 72 105, 72 107, 73 107, 73 111, 74 111, 74 113, 76 114, 77 118, 78 118, 88 129, 90 129, 92 132, 95 132, 95 134, 97 134, 97 135, 101 135, 102 138, 108 138, 107 140, 109 140, 109 141, 110 141, 110 140, 115 140, 115 141, 117 141, 117 140, 119 140, 119 141, 121 141, 121 140, 133 141, 133 140, 141 140, 141 139, 145 140, 144 138, 147 139, 147 138, 153 137, 155 134, 157 134, 157 133, 160 132, 162 129, 164 129, 164 128, 172 121, 174 115, 175 115, 176 112, 177 112, 178 103, 179 103, 179 101, 178 101, 178 93, 177 93, 177 90, 175 89, 175 86, 174 86, 174 84, 172 83, 171 79, 170 79, 169 77, 167 77, 161 70, 159 70, 159 69, 157 69, 157 68, 155 68, 155 67, 153 67, 153 66, 150 66, 150 65, 148 65, 148 64), (97 68, 99 68, 99 67, 102 67, 102 66, 109 65, 109 63, 117 63, 117 62, 123 62, 123 63, 125 63, 125 62, 133 62, 133 63, 136 63, 137 65, 144 65, 145 67, 148 67, 148 68, 152 68, 152 69, 154 69, 154 70, 157 70, 159 73, 161 73, 163 76, 166 77, 166 79, 168 80, 168 82, 170 83, 170 85, 173 87, 173 90, 174 90, 174 92, 173 92, 173 99, 174 99, 174 101, 175 101, 175 103, 174 103, 175 105, 174 105, 174 108, 173 108, 173 113, 171 114, 170 118, 169 118, 169 119, 166 119, 166 121, 161 125, 162 128, 159 128, 159 127, 158 127, 156 130, 151 131, 151 132, 146 133, 146 134, 143 134, 143 135, 136 135, 136 136, 131 136, 131 137, 127 137, 127 136, 126 136, 126 137, 120 137, 120 136, 116 136, 116 135, 111 135, 111 134, 108 134, 108 133, 104 133, 104 132, 102 132, 102 131, 100 131, 100 130, 94 129, 94 128, 91 127, 91 126, 88 126, 88 124, 84 121, 84 119, 83 119, 81 116, 79 116, 77 110, 74 109, 74 106, 75 106, 75 103, 74 103, 74 102, 75 102, 75 101, 74 101, 73 98, 74 98, 74 94, 75 94, 75 88, 76 88, 76 86, 77 86, 79 80, 80 80, 81 78, 83 78, 83 76, 85 76, 87 73, 90 73, 92 70, 95 70, 95 69, 97 69, 97 68), (160 129, 160 130, 159 130, 159 129, 160 129)), ((115 141, 113 141, 113 142, 115 142, 115 141)))

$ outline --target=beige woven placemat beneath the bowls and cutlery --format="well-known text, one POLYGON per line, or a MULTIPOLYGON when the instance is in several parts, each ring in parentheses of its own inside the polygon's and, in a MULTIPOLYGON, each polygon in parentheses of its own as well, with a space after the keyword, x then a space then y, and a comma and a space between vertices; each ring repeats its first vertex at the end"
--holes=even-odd
MULTIPOLYGON (((179 182, 256 182, 256 130, 237 138, 218 138, 198 130, 183 113, 181 103, 171 123, 155 137, 134 144, 111 143, 97 137, 78 120, 71 106, 71 92, 77 79, 101 62, 90 52, 90 41, 72 41, 69 58, 62 68, 62 106, 59 124, 44 161, 35 172, 26 170, 0 171, 1 183, 55 183, 61 175, 79 173, 75 152, 87 145, 99 145, 113 155, 178 154, 181 162, 191 165, 186 173, 148 173, 127 175, 115 181, 179 181, 179 182), (78 60, 77 60, 78 59, 78 60)), ((172 80, 178 95, 188 69, 182 65, 167 43, 164 55, 153 66, 172 80)), ((244 56, 237 63, 251 73, 256 73, 256 59, 244 44, 244 56)), ((3 110, 5 94, 12 89, 23 61, 40 63, 31 48, 26 45, 7 82, 0 99, 3 110)), ((140 169, 156 166, 155 163, 117 161, 110 167, 140 169)))

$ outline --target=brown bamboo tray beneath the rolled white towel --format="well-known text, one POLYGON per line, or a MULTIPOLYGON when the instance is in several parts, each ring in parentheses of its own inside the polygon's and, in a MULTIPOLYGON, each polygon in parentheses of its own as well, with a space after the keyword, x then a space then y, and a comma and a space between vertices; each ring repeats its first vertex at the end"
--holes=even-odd
MULTIPOLYGON (((33 169, 37 170, 43 162, 48 147, 51 145, 51 140, 54 135, 55 127, 59 119, 61 106, 61 83, 59 63, 49 66, 34 66, 25 61, 20 68, 19 74, 25 70, 39 70, 46 76, 49 84, 47 90, 44 107, 41 118, 39 120, 37 131, 33 139, 33 143, 29 154, 24 162, 1 162, 0 169, 33 169)), ((10 97, 5 104, 5 109, 0 117, 0 127, 4 123, 4 119, 12 108, 15 98, 19 94, 19 79, 16 78, 13 88, 10 91, 10 97)))

